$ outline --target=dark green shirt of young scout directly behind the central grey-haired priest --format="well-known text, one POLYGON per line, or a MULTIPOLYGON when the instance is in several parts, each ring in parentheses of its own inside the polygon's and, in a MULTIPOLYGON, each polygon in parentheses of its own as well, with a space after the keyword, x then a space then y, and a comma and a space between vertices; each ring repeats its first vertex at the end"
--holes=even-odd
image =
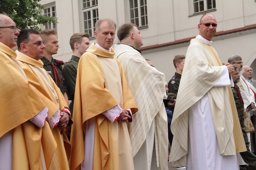
POLYGON ((65 76, 65 83, 68 88, 67 95, 71 103, 69 108, 71 112, 73 112, 73 104, 74 104, 74 93, 75 93, 75 82, 76 82, 76 74, 77 67, 80 57, 72 55, 71 60, 69 60, 63 67, 63 73, 65 76))

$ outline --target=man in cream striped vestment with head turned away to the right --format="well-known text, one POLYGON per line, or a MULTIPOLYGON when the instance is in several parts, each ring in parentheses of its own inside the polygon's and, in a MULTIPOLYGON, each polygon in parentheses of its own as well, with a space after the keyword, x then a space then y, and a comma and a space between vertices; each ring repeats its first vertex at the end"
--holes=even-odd
POLYGON ((128 124, 134 169, 168 169, 165 75, 150 66, 139 49, 142 36, 136 25, 123 24, 117 31, 122 44, 115 45, 138 112, 128 124))

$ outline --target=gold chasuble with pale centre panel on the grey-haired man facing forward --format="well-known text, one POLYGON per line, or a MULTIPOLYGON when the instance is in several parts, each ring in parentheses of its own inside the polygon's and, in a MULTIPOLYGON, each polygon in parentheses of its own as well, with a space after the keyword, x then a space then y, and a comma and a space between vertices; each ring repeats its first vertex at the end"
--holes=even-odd
POLYGON ((96 121, 93 169, 134 169, 127 124, 111 123, 101 114, 117 104, 123 109, 131 108, 133 114, 138 110, 114 53, 113 48, 106 52, 92 44, 79 61, 71 131, 71 170, 81 169, 80 164, 86 159, 85 127, 86 121, 93 117, 96 121))

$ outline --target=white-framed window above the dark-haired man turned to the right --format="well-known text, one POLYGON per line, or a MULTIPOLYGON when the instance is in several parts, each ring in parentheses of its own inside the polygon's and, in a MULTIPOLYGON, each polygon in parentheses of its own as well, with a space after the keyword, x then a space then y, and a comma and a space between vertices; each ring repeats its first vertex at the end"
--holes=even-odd
POLYGON ((130 21, 137 27, 147 26, 147 0, 130 0, 130 21))

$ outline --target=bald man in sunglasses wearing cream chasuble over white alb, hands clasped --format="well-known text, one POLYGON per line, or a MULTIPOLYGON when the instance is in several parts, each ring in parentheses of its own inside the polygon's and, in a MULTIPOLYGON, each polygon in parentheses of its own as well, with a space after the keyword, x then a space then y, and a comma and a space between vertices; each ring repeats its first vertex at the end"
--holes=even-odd
POLYGON ((191 39, 177 94, 171 131, 170 160, 187 170, 239 170, 237 152, 246 150, 229 75, 211 46, 217 21, 201 17, 199 35, 191 39))

